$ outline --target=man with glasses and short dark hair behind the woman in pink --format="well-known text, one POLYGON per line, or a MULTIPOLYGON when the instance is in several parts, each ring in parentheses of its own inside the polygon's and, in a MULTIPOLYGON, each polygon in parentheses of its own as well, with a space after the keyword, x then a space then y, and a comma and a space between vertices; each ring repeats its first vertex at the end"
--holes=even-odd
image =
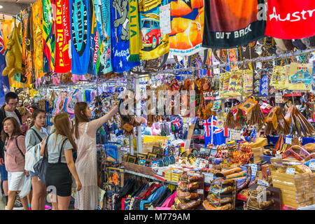
MULTIPOLYGON (((3 120, 7 117, 13 117, 18 120, 18 123, 22 124, 22 116, 20 112, 16 109, 19 102, 18 94, 15 92, 8 92, 4 97, 6 103, 0 109, 0 133, 3 130, 3 120)), ((22 132, 24 132, 25 128, 20 126, 22 132)), ((6 167, 4 165, 4 152, 3 152, 4 143, 0 138, 0 175, 1 175, 1 188, 3 189, 4 195, 6 197, 6 202, 8 203, 8 172, 6 171, 6 167)), ((20 207, 15 206, 15 207, 20 207)))

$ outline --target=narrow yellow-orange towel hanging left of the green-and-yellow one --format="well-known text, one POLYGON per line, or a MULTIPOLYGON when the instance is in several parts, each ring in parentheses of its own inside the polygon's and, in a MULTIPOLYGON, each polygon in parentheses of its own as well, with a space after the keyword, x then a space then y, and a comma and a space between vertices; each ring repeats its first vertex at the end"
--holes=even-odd
POLYGON ((41 1, 37 1, 31 6, 33 10, 34 28, 34 69, 36 78, 41 78, 43 73, 43 6, 41 1))

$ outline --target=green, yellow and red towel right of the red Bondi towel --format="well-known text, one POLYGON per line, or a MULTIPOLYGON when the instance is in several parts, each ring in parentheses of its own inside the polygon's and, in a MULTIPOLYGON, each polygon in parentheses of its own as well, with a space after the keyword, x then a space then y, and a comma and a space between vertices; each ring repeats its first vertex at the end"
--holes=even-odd
POLYGON ((55 20, 52 18, 52 6, 55 0, 42 0, 43 5, 43 72, 55 69, 55 20))

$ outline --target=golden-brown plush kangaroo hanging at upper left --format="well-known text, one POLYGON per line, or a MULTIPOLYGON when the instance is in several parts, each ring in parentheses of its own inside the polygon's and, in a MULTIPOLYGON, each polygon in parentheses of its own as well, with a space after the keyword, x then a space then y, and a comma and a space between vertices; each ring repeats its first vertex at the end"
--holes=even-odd
MULTIPOLYGON (((15 24, 15 22, 14 22, 15 24)), ((16 27, 14 25, 13 31, 8 37, 6 47, 6 68, 2 71, 2 76, 13 77, 15 73, 22 73, 22 46, 19 41, 21 23, 16 27)))

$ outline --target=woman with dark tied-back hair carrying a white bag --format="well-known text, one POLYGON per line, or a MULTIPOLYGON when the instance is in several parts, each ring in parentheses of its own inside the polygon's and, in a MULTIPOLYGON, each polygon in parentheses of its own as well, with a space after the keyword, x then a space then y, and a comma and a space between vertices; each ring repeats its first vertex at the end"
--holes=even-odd
MULTIPOLYGON (((48 136, 45 130, 45 111, 35 109, 31 113, 31 125, 25 137, 25 145, 27 148, 26 166, 25 169, 29 170, 31 176, 32 197, 31 197, 31 210, 45 210, 45 197, 46 186, 42 181, 38 180, 38 176, 34 173, 34 165, 40 159, 39 152, 43 141, 48 136), (28 156, 28 153, 31 154, 28 156)), ((52 204, 53 206, 54 204, 52 204)))

